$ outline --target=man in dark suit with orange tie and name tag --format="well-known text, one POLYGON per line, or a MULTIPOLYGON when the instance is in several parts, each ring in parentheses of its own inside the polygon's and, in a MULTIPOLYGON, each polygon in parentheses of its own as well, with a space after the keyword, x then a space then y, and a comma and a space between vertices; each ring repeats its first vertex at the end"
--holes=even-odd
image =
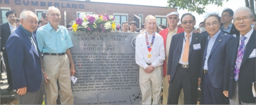
POLYGON ((205 36, 193 33, 196 18, 186 13, 181 17, 185 32, 173 36, 170 42, 168 72, 169 95, 167 104, 178 104, 183 88, 185 104, 197 104, 197 87, 202 67, 205 36))

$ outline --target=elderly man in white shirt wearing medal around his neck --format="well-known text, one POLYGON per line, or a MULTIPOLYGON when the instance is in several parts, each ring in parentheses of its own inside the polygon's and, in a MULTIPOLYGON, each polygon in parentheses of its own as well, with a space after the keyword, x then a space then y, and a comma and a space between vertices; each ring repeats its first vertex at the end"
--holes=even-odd
POLYGON ((160 104, 163 61, 165 60, 163 38, 155 33, 156 17, 145 18, 146 32, 136 38, 136 63, 140 66, 139 82, 142 93, 142 104, 160 104))

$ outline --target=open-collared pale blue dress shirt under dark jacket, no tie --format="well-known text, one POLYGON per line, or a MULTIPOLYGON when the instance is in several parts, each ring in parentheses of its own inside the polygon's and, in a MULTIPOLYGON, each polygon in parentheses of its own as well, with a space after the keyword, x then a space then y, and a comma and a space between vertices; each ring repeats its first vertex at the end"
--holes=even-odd
POLYGON ((204 61, 204 70, 208 70, 208 58, 210 55, 210 51, 211 51, 212 46, 214 46, 216 38, 219 36, 220 33, 221 33, 221 31, 216 33, 214 36, 212 36, 212 37, 208 36, 208 38, 207 38, 207 40, 209 42, 208 42, 208 46, 207 46, 207 50, 206 50, 206 57, 205 57, 205 61, 204 61))

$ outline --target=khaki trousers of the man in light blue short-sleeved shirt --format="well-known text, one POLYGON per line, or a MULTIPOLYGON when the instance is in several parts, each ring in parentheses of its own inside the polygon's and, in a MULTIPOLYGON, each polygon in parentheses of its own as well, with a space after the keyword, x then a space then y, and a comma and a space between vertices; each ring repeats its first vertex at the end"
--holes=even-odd
POLYGON ((70 80, 70 62, 68 56, 44 55, 42 69, 45 70, 49 77, 49 83, 45 84, 47 104, 57 104, 57 80, 60 87, 60 103, 74 104, 70 80))

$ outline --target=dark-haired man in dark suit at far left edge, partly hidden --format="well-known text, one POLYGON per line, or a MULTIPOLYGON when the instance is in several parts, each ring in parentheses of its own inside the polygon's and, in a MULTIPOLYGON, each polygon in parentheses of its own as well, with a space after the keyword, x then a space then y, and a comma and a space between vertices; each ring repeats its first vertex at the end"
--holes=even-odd
POLYGON ((9 36, 16 30, 16 13, 13 11, 6 12, 6 18, 8 22, 1 25, 1 51, 3 51, 3 58, 6 64, 7 80, 9 84, 7 90, 12 90, 12 74, 8 63, 5 45, 9 36))

